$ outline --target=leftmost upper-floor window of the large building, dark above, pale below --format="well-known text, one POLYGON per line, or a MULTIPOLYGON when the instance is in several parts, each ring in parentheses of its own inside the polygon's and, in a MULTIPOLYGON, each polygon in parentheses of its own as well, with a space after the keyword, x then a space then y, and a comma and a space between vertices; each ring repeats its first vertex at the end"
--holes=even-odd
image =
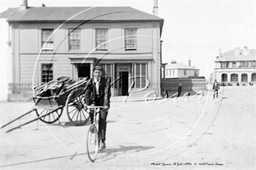
POLYGON ((42 50, 53 50, 54 49, 52 33, 53 33, 53 29, 42 29, 42 50), (48 38, 49 38, 49 40, 48 40, 48 38))

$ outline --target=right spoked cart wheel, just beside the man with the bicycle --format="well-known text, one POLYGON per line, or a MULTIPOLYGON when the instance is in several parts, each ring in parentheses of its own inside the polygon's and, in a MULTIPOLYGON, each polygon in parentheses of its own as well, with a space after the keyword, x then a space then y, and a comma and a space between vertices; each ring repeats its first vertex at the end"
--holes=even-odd
POLYGON ((68 119, 76 126, 85 125, 89 120, 89 113, 84 109, 84 88, 71 91, 66 101, 68 119))

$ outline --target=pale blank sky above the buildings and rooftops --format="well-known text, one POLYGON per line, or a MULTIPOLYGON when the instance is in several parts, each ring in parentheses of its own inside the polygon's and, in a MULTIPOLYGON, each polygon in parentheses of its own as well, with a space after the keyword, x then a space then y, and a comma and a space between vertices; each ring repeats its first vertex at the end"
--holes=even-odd
MULTIPOLYGON (((0 12, 20 6, 21 0, 0 0, 0 12)), ((131 6, 152 14, 153 0, 138 1, 40 1, 28 0, 28 6, 131 6)), ((256 1, 172 1, 159 0, 159 17, 164 19, 163 63, 177 63, 200 69, 206 78, 212 73, 214 60, 221 52, 235 47, 255 49, 256 1)))

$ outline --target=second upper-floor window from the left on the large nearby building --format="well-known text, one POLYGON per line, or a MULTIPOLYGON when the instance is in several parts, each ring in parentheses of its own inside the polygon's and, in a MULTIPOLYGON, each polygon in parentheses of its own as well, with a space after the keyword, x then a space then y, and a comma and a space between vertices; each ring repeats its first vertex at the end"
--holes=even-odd
POLYGON ((68 49, 79 50, 80 49, 80 32, 81 29, 68 29, 68 49))

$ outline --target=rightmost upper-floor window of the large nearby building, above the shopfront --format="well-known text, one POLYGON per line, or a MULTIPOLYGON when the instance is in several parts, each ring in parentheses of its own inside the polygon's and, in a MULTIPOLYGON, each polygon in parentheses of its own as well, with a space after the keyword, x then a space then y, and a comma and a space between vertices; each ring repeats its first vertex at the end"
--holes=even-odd
POLYGON ((136 32, 135 28, 125 29, 125 50, 136 50, 136 32))

